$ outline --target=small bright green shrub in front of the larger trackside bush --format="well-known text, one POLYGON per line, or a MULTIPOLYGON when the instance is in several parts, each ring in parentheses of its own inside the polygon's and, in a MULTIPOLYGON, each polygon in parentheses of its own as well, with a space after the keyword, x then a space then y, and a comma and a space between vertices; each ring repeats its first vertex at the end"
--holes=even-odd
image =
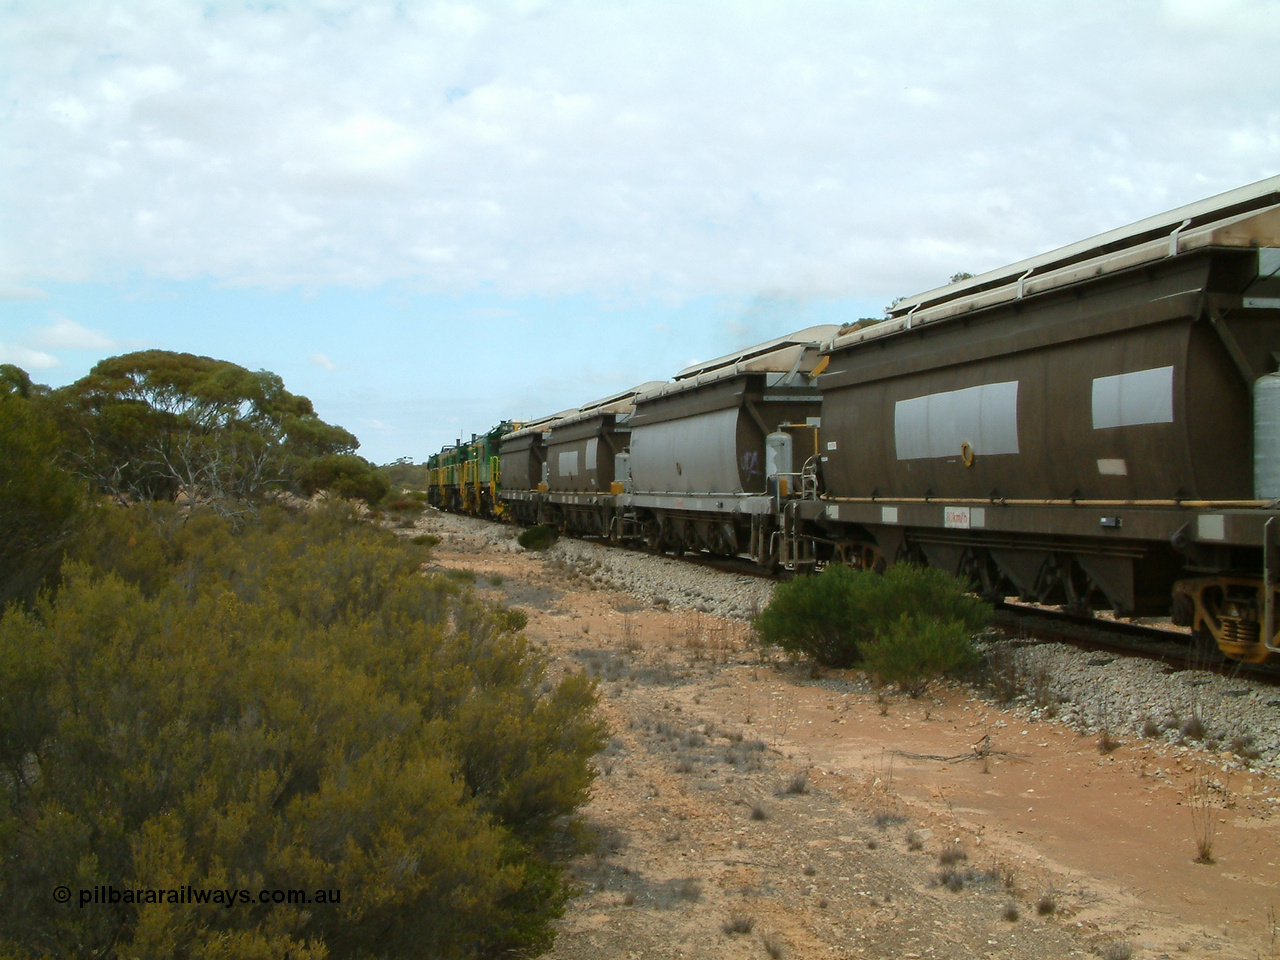
POLYGON ((977 662, 972 632, 960 620, 904 613, 888 632, 863 643, 859 649, 870 673, 887 684, 897 684, 908 696, 916 698, 931 680, 977 662))

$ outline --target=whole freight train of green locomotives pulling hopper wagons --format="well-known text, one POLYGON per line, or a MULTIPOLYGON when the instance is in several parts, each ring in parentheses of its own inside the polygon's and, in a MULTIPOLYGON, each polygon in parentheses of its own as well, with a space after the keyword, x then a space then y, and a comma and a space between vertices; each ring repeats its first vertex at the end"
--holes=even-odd
POLYGON ((429 479, 442 506, 483 512, 484 476, 494 512, 654 549, 909 559, 992 596, 1171 614, 1262 662, 1280 654, 1277 367, 1280 177, 881 323, 504 424, 497 460, 490 431, 429 479))

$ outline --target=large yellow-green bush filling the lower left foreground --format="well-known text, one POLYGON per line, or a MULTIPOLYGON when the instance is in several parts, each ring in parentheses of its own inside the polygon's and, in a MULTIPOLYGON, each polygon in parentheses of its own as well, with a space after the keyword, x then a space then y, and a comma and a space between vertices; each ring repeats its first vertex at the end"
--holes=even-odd
POLYGON ((595 691, 425 557, 342 507, 100 516, 59 591, 0 617, 0 956, 545 950, 595 691), (58 884, 342 901, 81 909, 58 884))

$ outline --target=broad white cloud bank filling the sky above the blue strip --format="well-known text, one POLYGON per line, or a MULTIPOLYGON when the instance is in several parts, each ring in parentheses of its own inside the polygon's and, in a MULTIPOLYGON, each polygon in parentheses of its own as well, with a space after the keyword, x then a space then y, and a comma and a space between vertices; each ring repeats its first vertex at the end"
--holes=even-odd
POLYGON ((1277 173, 1277 44, 1270 0, 18 6, 3 279, 887 297, 1277 173))

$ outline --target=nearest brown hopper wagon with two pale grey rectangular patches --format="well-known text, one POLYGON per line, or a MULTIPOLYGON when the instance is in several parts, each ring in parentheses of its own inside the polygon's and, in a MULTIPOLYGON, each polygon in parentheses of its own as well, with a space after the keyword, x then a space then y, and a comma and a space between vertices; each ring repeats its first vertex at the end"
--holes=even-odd
POLYGON ((1172 608, 1270 655, 1280 178, 910 297, 826 356, 815 557, 1172 608))

